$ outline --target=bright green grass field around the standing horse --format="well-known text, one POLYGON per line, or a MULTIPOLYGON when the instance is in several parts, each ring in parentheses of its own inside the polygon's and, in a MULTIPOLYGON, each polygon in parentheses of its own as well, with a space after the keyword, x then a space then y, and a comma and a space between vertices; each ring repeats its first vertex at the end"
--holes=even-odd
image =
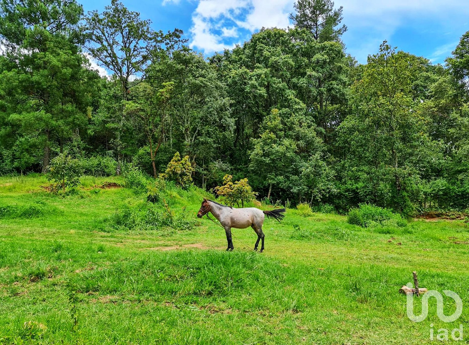
POLYGON ((452 342, 460 324, 469 342, 468 308, 443 323, 430 299, 414 323, 398 293, 416 270, 421 287, 452 290, 466 307, 468 223, 369 229, 288 209, 281 224, 265 220, 264 253, 250 228, 233 229, 229 253, 223 229, 196 218, 203 191, 165 197, 195 227, 129 229, 109 224, 163 203, 93 187, 103 181, 123 182, 85 177, 63 197, 41 176, 0 178, 0 343, 432 344, 441 328, 452 342))

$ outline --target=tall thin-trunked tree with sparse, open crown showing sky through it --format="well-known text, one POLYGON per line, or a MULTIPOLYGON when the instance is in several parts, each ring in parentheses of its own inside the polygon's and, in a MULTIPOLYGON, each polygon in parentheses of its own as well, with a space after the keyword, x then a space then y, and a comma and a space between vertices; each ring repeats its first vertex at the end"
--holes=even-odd
POLYGON ((130 89, 145 79, 146 67, 159 55, 172 52, 185 42, 182 30, 164 34, 150 28, 150 20, 142 20, 138 12, 129 11, 121 2, 112 0, 110 6, 99 14, 91 11, 82 26, 86 48, 99 65, 116 75, 115 82, 121 88, 121 112, 117 121, 114 147, 117 150, 118 171, 124 150, 122 135, 126 133, 124 103, 129 99, 130 89))

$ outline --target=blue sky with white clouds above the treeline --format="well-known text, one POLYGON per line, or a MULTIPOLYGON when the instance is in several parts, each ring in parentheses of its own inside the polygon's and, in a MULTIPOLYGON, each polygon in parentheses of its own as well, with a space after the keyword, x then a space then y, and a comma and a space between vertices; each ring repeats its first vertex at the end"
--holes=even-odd
MULTIPOLYGON (((184 30, 189 45, 211 55, 248 40, 262 27, 291 23, 293 0, 121 0, 155 30, 184 30)), ((85 11, 102 11, 110 0, 78 0, 85 11)), ((469 30, 468 0, 336 0, 343 6, 342 39, 361 63, 383 40, 434 63, 444 63, 469 30)))

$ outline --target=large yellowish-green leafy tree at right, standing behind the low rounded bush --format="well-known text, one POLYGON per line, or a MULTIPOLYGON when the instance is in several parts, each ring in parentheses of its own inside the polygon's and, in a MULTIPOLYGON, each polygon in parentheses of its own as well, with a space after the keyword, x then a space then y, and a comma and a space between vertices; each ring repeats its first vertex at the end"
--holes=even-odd
POLYGON ((423 71, 421 59, 385 41, 353 85, 352 112, 339 127, 339 143, 348 148, 343 178, 361 185, 362 201, 405 215, 418 200, 421 167, 441 152, 428 135, 421 100, 413 97, 423 71))

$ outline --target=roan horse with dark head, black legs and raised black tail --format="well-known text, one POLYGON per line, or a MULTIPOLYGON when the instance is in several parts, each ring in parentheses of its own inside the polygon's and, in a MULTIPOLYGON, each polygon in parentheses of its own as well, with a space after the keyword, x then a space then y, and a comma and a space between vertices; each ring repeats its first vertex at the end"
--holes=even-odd
POLYGON ((262 224, 264 223, 264 218, 280 220, 285 217, 283 214, 285 209, 277 209, 272 211, 263 211, 255 207, 247 207, 242 209, 236 209, 231 206, 225 206, 220 203, 214 202, 204 198, 200 210, 197 212, 197 217, 202 218, 208 212, 211 212, 212 215, 218 219, 220 224, 225 228, 227 233, 228 241, 228 250, 233 250, 233 240, 231 239, 231 228, 237 229, 246 229, 248 226, 252 227, 257 233, 257 241, 254 246, 254 250, 257 250, 259 245, 259 240, 262 239, 261 253, 264 250, 264 233, 262 232, 262 224))

